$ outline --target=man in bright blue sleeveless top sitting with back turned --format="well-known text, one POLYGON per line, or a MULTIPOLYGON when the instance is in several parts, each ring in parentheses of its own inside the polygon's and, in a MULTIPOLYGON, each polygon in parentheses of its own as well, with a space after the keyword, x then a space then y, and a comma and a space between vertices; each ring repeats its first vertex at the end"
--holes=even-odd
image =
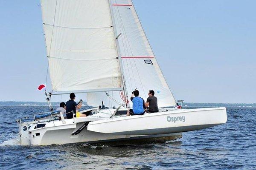
POLYGON ((132 109, 129 109, 127 111, 126 116, 133 116, 133 115, 143 115, 145 113, 144 111, 144 100, 143 98, 139 97, 139 91, 135 90, 132 92, 135 97, 131 96, 131 101, 132 101, 132 109))

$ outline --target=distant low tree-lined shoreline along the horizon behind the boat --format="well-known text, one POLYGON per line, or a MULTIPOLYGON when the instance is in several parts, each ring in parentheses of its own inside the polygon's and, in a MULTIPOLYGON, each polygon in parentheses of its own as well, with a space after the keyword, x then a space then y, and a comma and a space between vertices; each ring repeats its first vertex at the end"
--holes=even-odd
MULTIPOLYGON (((58 106, 59 102, 51 102, 52 106, 58 106)), ((87 102, 83 103, 87 105, 87 102)), ((48 106, 47 102, 0 102, 0 106, 48 106)), ((256 103, 189 103, 184 102, 185 107, 238 107, 238 108, 255 108, 256 103)))

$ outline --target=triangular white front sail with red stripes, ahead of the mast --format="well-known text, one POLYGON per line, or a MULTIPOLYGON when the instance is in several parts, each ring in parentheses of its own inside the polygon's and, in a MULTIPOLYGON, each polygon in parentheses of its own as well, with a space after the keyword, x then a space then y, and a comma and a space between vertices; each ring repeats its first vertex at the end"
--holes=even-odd
MULTIPOLYGON (((148 91, 154 90, 158 99, 158 107, 176 105, 133 3, 131 0, 112 0, 111 2, 116 34, 121 33, 118 42, 128 95, 137 88, 140 91, 140 96, 146 100, 148 91)), ((112 97, 122 102, 118 92, 113 92, 112 97)), ((100 101, 108 101, 108 96, 105 93, 90 93, 87 94, 87 99, 89 104, 95 105, 100 101)), ((131 104, 130 101, 130 106, 131 104)), ((112 105, 116 105, 116 103, 114 102, 112 105)))

